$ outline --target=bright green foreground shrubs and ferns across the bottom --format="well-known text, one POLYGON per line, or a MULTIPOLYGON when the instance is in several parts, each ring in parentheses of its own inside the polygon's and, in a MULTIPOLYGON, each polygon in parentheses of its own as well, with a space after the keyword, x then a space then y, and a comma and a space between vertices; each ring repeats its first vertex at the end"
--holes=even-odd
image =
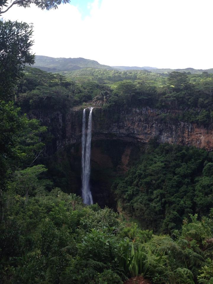
POLYGON ((138 275, 152 283, 213 283, 213 210, 201 221, 191 215, 172 236, 152 235, 59 188, 27 203, 24 195, 16 187, 4 193, 0 283, 112 284, 138 275))

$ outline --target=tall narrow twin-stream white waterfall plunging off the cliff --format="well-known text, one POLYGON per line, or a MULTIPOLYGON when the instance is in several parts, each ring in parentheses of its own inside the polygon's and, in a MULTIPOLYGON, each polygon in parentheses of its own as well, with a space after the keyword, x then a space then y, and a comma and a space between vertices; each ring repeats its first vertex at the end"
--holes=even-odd
POLYGON ((92 194, 91 194, 90 186, 89 186, 91 137, 92 137, 92 110, 93 110, 93 107, 90 108, 87 135, 86 135, 86 109, 83 110, 82 138, 81 138, 82 198, 83 198, 83 203, 88 204, 88 205, 93 204, 92 194))

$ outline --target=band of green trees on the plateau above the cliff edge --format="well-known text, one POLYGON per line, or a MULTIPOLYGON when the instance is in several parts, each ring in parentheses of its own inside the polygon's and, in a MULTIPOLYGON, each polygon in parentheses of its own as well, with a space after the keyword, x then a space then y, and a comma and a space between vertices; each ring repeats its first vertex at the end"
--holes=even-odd
MULTIPOLYGON (((70 77, 25 68, 16 89, 17 103, 29 112, 65 111, 92 101, 104 92, 104 107, 150 107, 164 121, 207 125, 213 119, 213 75, 181 72, 156 74, 147 71, 82 69, 70 77), (171 111, 178 111, 171 114, 171 111)), ((93 104, 100 105, 100 100, 93 104)))

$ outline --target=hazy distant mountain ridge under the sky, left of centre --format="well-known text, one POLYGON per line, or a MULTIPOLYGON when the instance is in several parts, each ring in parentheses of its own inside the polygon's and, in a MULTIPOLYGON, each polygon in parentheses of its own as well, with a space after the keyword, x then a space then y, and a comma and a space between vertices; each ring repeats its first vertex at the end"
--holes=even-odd
POLYGON ((54 58, 43 55, 35 55, 35 68, 39 68, 43 71, 48 72, 59 72, 59 71, 73 71, 83 68, 96 68, 96 69, 109 69, 113 68, 107 65, 99 64, 95 60, 79 58, 54 58))

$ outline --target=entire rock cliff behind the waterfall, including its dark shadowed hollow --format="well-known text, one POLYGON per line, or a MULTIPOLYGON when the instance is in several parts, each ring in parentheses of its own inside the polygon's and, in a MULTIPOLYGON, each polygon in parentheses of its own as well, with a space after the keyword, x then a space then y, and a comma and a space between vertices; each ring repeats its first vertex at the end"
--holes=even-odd
MULTIPOLYGON (((46 164, 55 186, 66 192, 81 194, 81 132, 83 108, 60 112, 38 113, 53 137, 46 147, 46 164)), ((170 113, 175 114, 175 112, 170 113)), ((89 109, 86 111, 88 121, 89 109)), ((137 161, 146 143, 158 142, 213 149, 213 126, 163 121, 157 110, 150 108, 93 109, 91 143, 91 191, 94 202, 116 208, 112 182, 137 161)))

